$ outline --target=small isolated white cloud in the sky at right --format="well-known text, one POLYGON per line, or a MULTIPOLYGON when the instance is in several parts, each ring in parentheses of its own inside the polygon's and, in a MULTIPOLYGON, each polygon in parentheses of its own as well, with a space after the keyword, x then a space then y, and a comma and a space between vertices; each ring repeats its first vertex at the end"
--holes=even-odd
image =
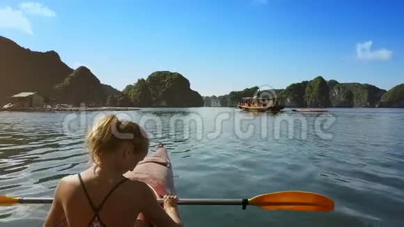
POLYGON ((368 61, 387 61, 391 58, 393 52, 389 49, 372 49, 373 41, 358 42, 357 43, 357 58, 360 60, 368 61))

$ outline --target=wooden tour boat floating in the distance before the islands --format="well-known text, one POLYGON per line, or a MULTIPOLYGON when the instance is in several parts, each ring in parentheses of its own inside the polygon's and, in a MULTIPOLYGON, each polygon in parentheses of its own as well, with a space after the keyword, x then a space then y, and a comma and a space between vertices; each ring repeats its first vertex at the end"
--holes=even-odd
POLYGON ((244 111, 280 111, 283 109, 282 106, 278 104, 278 100, 268 97, 243 97, 242 103, 237 105, 237 108, 244 111))

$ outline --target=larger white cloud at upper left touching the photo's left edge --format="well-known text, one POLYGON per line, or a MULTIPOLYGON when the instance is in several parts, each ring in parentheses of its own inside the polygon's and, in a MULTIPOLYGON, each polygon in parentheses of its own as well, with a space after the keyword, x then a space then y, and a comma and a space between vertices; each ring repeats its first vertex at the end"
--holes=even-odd
POLYGON ((31 23, 20 10, 10 6, 0 8, 0 29, 17 29, 30 35, 33 34, 31 23))

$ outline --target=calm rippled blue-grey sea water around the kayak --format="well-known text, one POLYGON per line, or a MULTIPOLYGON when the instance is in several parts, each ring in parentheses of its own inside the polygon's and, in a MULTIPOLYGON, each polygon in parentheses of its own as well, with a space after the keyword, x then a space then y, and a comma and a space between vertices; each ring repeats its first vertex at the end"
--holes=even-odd
MULTIPOLYGON (((88 167, 95 113, 0 112, 0 194, 52 196, 88 167)), ((403 226, 404 109, 251 114, 227 108, 117 112, 166 143, 178 195, 244 198, 272 191, 325 194, 327 213, 180 207, 187 226, 403 226)), ((41 226, 49 205, 0 207, 1 226, 41 226)))

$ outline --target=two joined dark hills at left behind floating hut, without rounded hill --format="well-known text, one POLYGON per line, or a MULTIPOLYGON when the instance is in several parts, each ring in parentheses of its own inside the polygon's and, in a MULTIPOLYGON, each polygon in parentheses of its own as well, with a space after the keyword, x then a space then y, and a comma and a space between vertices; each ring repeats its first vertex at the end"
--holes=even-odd
POLYGON ((78 105, 104 105, 110 95, 121 91, 101 84, 88 68, 72 70, 54 51, 33 52, 0 36, 0 104, 10 96, 35 91, 57 102, 78 105))

